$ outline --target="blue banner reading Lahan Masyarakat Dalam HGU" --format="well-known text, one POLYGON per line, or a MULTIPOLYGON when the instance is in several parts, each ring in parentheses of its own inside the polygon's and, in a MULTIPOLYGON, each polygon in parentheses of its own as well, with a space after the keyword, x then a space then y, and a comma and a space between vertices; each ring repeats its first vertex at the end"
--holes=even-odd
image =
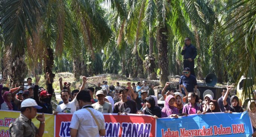
POLYGON ((251 137, 253 129, 247 112, 206 113, 157 119, 156 137, 251 137))

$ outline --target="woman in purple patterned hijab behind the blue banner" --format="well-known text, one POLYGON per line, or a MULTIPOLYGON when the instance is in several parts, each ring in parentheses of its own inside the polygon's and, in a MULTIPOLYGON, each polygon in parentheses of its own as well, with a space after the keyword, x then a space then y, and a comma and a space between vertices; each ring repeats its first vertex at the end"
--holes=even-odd
POLYGON ((165 99, 165 106, 161 111, 162 117, 175 117, 178 118, 179 110, 174 107, 175 98, 172 95, 169 95, 165 99))

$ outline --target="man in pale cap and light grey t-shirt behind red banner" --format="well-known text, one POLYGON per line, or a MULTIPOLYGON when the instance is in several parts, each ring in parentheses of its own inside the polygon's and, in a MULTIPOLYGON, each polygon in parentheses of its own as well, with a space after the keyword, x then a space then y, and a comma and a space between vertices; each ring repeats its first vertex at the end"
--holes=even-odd
POLYGON ((98 99, 98 102, 92 104, 95 110, 98 110, 101 113, 113 113, 112 105, 104 101, 105 94, 102 90, 96 92, 96 98, 98 99))

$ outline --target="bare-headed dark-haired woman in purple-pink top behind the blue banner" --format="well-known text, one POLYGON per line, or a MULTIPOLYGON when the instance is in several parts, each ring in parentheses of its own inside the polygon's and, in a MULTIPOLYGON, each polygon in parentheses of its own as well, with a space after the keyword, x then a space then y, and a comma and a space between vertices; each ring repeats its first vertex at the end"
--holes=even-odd
POLYGON ((203 111, 202 105, 198 103, 199 97, 195 92, 189 92, 187 100, 189 103, 184 105, 182 115, 199 114, 203 111))

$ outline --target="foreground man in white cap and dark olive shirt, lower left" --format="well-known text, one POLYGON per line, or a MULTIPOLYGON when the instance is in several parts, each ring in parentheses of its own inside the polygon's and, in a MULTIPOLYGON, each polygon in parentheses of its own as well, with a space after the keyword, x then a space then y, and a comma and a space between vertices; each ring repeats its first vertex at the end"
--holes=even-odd
POLYGON ((9 127, 11 137, 43 137, 44 113, 37 116, 37 109, 41 108, 34 99, 24 100, 21 103, 20 116, 9 127), (39 128, 31 122, 35 117, 40 121, 39 128))

